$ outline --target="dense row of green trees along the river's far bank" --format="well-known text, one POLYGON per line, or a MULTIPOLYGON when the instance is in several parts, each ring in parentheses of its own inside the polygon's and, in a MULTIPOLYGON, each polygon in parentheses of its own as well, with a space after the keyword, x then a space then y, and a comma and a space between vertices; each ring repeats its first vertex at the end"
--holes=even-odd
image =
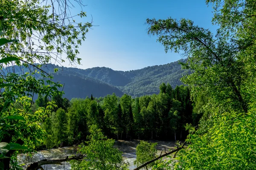
MULTIPOLYGON (((52 98, 56 107, 42 123, 46 131, 47 148, 79 144, 87 140, 88 127, 96 125, 113 139, 185 139, 186 124, 196 125, 188 86, 162 83, 160 93, 133 99, 124 94, 105 97, 73 98, 70 101, 61 94, 52 98)), ((36 107, 47 107, 49 99, 38 96, 36 107)))

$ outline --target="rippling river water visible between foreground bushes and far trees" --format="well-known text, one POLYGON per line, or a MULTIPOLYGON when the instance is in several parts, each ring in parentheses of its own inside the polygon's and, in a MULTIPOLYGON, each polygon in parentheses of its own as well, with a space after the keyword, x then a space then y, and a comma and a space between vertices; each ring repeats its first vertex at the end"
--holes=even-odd
MULTIPOLYGON (((134 161, 136 159, 136 147, 139 143, 139 140, 117 140, 115 142, 115 147, 122 151, 122 156, 125 161, 128 161, 130 166, 129 169, 132 170, 136 166, 134 165, 134 161)), ((174 149, 175 142, 170 141, 150 141, 150 142, 157 142, 157 155, 160 155, 162 150, 174 149)), ((26 169, 29 163, 33 163, 36 161, 40 161, 43 159, 63 159, 66 156, 76 155, 78 147, 61 147, 56 149, 49 149, 49 150, 41 150, 37 153, 32 154, 32 158, 20 154, 18 156, 18 161, 20 164, 24 164, 22 167, 26 169)), ((49 164, 42 166, 44 170, 71 170, 70 164, 68 162, 61 162, 61 164, 49 164)))

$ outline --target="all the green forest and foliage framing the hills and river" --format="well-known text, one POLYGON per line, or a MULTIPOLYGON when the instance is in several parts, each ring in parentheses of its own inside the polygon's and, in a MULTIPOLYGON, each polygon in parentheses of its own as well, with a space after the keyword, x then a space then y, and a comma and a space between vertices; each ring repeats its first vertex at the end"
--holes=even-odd
MULTIPOLYGON (((84 11, 67 14, 72 3, 82 5, 0 0, 0 169, 19 170, 20 153, 78 144, 80 156, 61 159, 72 169, 127 170, 115 139, 185 139, 160 156, 156 144, 141 140, 135 170, 256 169, 256 0, 206 0, 216 34, 184 18, 146 20, 148 35, 166 53, 186 57, 180 62, 189 70, 181 78, 185 86, 163 81, 159 94, 69 101, 42 66, 81 63, 79 46, 93 24, 76 22, 84 11), (28 70, 4 69, 16 66, 28 70)), ((27 169, 42 169, 46 161, 27 169)))

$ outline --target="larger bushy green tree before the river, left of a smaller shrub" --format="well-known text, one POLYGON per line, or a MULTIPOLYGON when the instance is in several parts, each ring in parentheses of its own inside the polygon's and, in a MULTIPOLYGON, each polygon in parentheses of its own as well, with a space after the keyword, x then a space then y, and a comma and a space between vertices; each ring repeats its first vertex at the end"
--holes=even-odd
POLYGON ((87 145, 80 145, 78 151, 85 157, 82 161, 70 161, 72 169, 128 170, 121 151, 113 147, 115 140, 104 136, 96 125, 90 126, 89 132, 87 145))

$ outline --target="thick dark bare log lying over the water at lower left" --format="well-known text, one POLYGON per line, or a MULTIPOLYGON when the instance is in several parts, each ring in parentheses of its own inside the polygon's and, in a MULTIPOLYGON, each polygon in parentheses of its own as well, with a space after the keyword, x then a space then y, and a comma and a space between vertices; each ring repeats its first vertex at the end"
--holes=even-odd
POLYGON ((30 164, 26 168, 26 170, 39 170, 39 169, 44 170, 41 166, 45 164, 60 164, 61 162, 70 161, 70 160, 81 161, 83 158, 84 158, 84 155, 72 156, 72 157, 67 156, 66 158, 63 158, 63 159, 43 159, 41 161, 30 164))

